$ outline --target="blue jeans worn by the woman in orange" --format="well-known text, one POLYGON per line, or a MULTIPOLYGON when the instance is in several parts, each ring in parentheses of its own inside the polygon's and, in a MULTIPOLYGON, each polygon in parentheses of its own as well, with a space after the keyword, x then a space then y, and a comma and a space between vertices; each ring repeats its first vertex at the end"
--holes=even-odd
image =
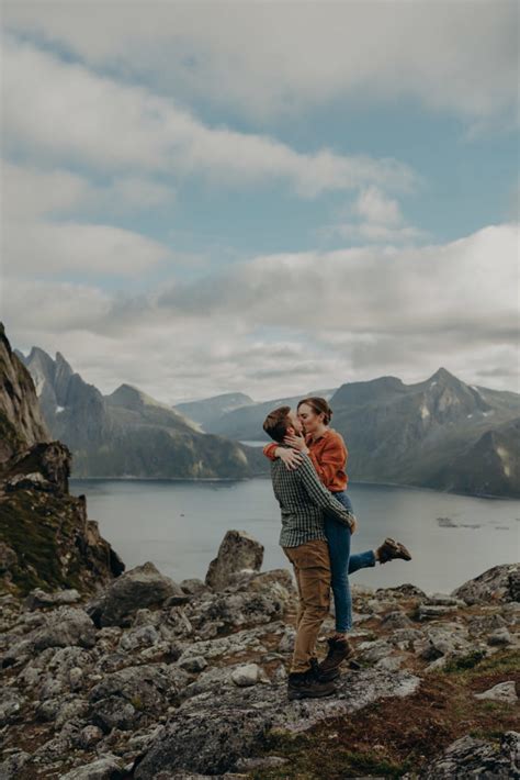
MULTIPOLYGON (((352 502, 344 490, 334 495, 346 509, 353 512, 352 502)), ((375 566, 375 555, 373 550, 350 555, 350 528, 328 513, 325 514, 325 535, 329 545, 336 631, 343 633, 352 628, 352 597, 349 575, 358 569, 375 566)))

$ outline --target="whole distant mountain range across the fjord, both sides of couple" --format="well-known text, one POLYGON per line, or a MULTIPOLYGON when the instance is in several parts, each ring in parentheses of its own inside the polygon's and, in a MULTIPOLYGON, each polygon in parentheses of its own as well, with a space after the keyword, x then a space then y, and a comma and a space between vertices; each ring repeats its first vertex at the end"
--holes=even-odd
POLYGON ((265 475, 261 449, 240 442, 268 441, 262 423, 271 409, 315 394, 329 399, 352 481, 520 495, 520 395, 465 385, 443 368, 416 385, 381 377, 271 401, 226 393, 172 409, 129 385, 103 397, 59 353, 18 354, 48 428, 75 455, 75 477, 265 475))

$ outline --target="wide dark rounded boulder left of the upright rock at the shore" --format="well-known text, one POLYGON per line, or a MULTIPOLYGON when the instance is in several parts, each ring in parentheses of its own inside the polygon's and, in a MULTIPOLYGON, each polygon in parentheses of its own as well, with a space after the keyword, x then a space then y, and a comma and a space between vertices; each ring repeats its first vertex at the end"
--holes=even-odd
POLYGON ((128 626, 137 610, 158 606, 172 595, 184 594, 177 582, 147 562, 118 577, 88 605, 87 612, 99 627, 128 626))

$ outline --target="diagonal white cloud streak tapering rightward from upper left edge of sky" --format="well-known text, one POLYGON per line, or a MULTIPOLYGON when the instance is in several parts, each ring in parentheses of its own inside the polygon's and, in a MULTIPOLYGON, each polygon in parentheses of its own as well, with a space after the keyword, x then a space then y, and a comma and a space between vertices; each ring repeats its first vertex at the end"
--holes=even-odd
POLYGON ((267 135, 211 127, 169 99, 101 77, 8 37, 3 56, 4 145, 101 172, 186 176, 223 186, 286 182, 301 197, 371 182, 408 189, 393 159, 295 152, 267 135), (42 83, 52 89, 42 89, 42 83))

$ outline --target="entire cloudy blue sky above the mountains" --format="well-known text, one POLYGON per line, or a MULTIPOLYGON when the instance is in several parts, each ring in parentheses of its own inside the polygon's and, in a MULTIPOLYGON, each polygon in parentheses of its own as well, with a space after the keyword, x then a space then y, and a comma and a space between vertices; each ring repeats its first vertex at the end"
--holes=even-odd
POLYGON ((0 317, 110 393, 519 390, 519 5, 4 2, 0 317))

